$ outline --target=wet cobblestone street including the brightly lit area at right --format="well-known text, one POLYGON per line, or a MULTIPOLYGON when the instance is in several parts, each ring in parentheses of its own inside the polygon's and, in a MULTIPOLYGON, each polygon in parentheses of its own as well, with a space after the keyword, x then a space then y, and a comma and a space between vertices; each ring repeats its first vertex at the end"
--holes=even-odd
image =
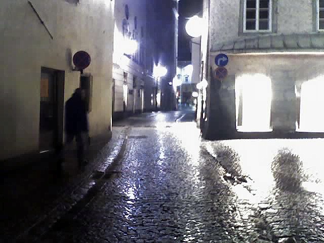
POLYGON ((130 118, 113 176, 39 242, 324 242, 323 140, 203 141, 179 117, 130 118))

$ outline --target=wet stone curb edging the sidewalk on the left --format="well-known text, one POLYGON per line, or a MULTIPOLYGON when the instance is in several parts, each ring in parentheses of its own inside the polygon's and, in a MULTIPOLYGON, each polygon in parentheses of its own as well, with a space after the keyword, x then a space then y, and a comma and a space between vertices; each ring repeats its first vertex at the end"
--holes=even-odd
POLYGON ((60 218, 72 210, 80 200, 90 194, 98 184, 98 179, 100 180, 104 177, 106 172, 113 167, 114 162, 124 154, 125 149, 123 148, 126 146, 129 130, 130 128, 127 127, 120 133, 114 148, 108 156, 107 154, 101 153, 96 157, 95 160, 97 161, 94 163, 93 173, 90 176, 86 176, 86 178, 80 182, 79 186, 72 189, 72 192, 68 191, 59 197, 56 200, 56 206, 47 215, 38 218, 32 226, 20 233, 16 238, 16 242, 26 242, 26 240, 28 242, 36 241, 49 231, 60 218), (98 163, 98 160, 104 160, 104 163, 98 163), (96 180, 93 179, 98 173, 100 174, 100 178, 96 178, 96 180))

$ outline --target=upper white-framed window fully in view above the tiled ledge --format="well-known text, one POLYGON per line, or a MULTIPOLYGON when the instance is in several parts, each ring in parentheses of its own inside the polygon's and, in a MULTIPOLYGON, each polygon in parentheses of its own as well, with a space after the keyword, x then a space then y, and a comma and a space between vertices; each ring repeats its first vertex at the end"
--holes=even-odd
POLYGON ((244 0, 244 32, 269 32, 271 24, 272 0, 244 0))

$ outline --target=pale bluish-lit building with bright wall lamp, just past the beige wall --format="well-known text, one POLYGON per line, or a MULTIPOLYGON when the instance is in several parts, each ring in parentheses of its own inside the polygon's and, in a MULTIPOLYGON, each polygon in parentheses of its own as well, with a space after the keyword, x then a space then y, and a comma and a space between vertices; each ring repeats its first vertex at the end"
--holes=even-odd
POLYGON ((148 34, 146 0, 115 4, 113 118, 155 109, 154 43, 148 34), (136 43, 135 51, 127 50, 136 43))

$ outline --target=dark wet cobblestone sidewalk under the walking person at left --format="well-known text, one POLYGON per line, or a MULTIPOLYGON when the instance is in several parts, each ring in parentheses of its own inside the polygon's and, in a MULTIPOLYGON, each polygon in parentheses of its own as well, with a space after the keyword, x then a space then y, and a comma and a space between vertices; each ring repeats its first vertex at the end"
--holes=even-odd
POLYGON ((75 159, 71 159, 64 163, 61 176, 57 175, 55 161, 45 161, 44 165, 33 166, 23 174, 6 176, 1 193, 0 226, 4 234, 0 242, 15 242, 17 239, 31 242, 25 237, 29 231, 36 231, 34 234, 46 232, 93 186, 89 177, 94 170, 100 171, 111 163, 107 158, 118 152, 115 150, 121 146, 125 133, 125 128, 114 128, 110 142, 100 145, 99 153, 97 147, 91 147, 88 154, 91 163, 83 171, 78 170, 75 159))

